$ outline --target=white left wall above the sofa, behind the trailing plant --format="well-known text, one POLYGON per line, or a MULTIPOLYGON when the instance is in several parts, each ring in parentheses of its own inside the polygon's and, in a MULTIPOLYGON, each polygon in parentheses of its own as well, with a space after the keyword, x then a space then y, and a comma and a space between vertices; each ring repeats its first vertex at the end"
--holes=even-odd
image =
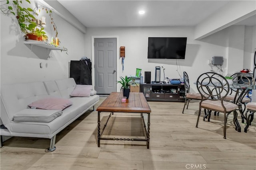
MULTIPOLYGON (((34 8, 33 3, 31 1, 30 8, 34 8)), ((46 17, 45 31, 51 39, 55 34, 50 17, 42 11, 40 15, 46 17)), ((53 13, 52 17, 58 28, 60 46, 68 49, 68 55, 64 51, 52 51, 48 55, 46 49, 36 46, 31 51, 30 46, 23 43, 24 34, 16 18, 1 12, 1 84, 67 78, 70 60, 84 57, 84 34, 57 14, 53 13), (40 63, 43 68, 40 68, 40 63)))

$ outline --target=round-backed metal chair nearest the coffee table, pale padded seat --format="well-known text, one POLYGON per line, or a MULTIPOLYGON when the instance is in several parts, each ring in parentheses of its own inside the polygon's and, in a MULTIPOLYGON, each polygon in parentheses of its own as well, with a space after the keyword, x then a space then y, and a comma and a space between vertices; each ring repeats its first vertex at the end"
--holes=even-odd
POLYGON ((204 108, 224 113, 224 139, 226 139, 226 123, 230 113, 234 114, 233 123, 235 125, 235 129, 240 132, 241 127, 238 123, 238 113, 236 112, 238 106, 231 102, 224 101, 224 98, 229 94, 230 91, 228 81, 222 75, 216 72, 206 72, 198 77, 196 87, 202 97, 199 104, 196 127, 198 127, 201 109, 204 108), (204 98, 206 98, 206 100, 204 100, 204 98))

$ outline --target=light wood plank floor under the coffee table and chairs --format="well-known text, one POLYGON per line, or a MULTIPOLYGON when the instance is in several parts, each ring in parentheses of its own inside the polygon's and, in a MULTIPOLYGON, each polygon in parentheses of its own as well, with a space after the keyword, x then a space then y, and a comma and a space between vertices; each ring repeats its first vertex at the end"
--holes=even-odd
MULTIPOLYGON (((105 98, 100 98, 99 104, 105 98)), ((255 170, 256 125, 248 133, 234 129, 228 118, 227 139, 223 139, 223 115, 211 122, 200 118, 198 102, 182 114, 182 102, 148 102, 152 113, 150 149, 145 142, 102 141, 97 147, 97 112, 87 111, 56 137, 54 152, 45 152, 50 139, 12 137, 0 149, 1 170, 255 170)), ((109 113, 101 114, 101 127, 109 113)), ((104 136, 142 137, 139 114, 115 113, 104 136)), ((240 117, 239 117, 240 118, 240 117)), ((239 120, 239 122, 241 122, 239 120)))

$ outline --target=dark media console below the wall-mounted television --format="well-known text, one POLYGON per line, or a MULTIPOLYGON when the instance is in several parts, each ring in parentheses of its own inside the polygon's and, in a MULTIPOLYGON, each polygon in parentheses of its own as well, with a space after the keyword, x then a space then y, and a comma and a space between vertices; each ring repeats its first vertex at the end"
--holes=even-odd
POLYGON ((147 101, 184 102, 184 84, 140 84, 142 92, 147 101))

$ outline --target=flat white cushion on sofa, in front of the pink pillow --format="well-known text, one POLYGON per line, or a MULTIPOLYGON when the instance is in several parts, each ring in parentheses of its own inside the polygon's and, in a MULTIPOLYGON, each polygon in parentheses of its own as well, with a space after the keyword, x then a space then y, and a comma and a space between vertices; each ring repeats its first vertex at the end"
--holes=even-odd
POLYGON ((24 109, 13 116, 14 122, 50 122, 62 115, 62 111, 44 109, 24 109))

